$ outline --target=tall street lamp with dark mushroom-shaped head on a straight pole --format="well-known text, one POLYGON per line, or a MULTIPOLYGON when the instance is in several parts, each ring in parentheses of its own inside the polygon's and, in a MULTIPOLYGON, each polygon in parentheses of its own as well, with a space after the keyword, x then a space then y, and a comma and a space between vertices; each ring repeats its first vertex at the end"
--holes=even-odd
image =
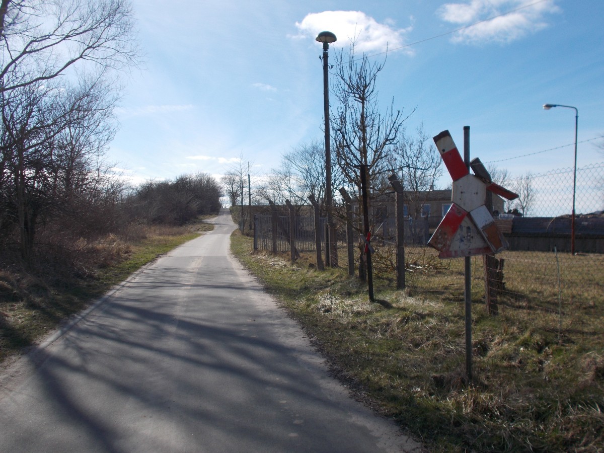
POLYGON ((327 228, 329 234, 325 238, 326 253, 329 251, 327 264, 332 267, 338 266, 338 241, 336 240, 336 229, 332 222, 332 152, 329 138, 329 43, 336 42, 336 36, 331 31, 321 31, 316 37, 318 42, 323 43, 323 109, 325 116, 325 207, 327 210, 327 228))

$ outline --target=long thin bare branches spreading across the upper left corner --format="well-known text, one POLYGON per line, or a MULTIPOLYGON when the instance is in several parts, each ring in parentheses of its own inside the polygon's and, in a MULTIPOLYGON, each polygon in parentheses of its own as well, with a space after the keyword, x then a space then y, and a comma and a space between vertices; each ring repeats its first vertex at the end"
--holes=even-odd
POLYGON ((127 0, 2 0, 0 27, 2 92, 77 67, 122 69, 140 54, 127 0))

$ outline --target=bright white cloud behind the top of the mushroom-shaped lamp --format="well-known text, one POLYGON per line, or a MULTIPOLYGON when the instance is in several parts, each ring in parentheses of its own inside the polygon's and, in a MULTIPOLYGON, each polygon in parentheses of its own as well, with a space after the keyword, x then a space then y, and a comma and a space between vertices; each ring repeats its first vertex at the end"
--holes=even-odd
MULTIPOLYGON (((300 30, 300 37, 316 37, 318 33, 329 30, 338 37, 333 45, 347 47, 350 41, 356 37, 356 51, 361 53, 384 52, 387 48, 394 49, 405 45, 405 34, 411 28, 395 28, 391 19, 386 19, 383 24, 377 22, 371 16, 362 11, 323 11, 322 13, 311 13, 302 20, 296 22, 300 30)), ((413 51, 406 50, 411 54, 413 51)))

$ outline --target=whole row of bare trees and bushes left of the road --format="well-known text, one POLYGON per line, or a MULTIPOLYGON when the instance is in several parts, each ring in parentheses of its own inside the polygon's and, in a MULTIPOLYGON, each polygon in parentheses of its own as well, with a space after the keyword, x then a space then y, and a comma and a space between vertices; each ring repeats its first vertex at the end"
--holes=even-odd
POLYGON ((2 1, 0 271, 57 268, 104 236, 218 210, 208 175, 132 188, 105 159, 136 28, 129 2, 2 1))

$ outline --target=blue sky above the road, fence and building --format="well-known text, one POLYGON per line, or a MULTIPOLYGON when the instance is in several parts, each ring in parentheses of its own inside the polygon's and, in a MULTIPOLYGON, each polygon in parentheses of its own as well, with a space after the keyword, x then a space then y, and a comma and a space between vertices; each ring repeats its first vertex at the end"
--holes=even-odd
MULTIPOLYGON (((146 56, 124 79, 109 159, 133 182, 219 177, 240 156, 262 175, 323 137, 322 30, 338 36, 330 55, 355 30, 372 58, 388 46, 383 108, 416 108, 408 130, 423 121, 458 145, 471 126, 472 157, 511 175, 573 166, 573 146, 502 161, 574 143, 574 111, 544 103, 579 109, 579 142, 604 135, 602 0, 132 3, 146 56)), ((579 143, 579 167, 604 161, 602 141, 579 143)))

